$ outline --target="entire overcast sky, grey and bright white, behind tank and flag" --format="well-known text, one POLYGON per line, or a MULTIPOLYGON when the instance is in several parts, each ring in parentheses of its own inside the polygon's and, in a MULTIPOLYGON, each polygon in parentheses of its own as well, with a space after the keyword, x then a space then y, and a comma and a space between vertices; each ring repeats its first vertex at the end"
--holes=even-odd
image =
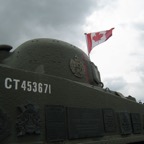
POLYGON ((105 87, 144 102, 144 0, 0 0, 0 43, 55 38, 87 53, 84 33, 114 27, 90 59, 105 87))

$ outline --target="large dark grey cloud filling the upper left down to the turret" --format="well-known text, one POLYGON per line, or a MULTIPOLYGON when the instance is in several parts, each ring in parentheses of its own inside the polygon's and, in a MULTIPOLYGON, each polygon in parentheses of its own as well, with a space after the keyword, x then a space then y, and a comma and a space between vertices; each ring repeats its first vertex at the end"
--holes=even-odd
POLYGON ((112 0, 5 0, 0 5, 0 43, 17 45, 35 37, 62 38, 76 43, 94 10, 112 0))

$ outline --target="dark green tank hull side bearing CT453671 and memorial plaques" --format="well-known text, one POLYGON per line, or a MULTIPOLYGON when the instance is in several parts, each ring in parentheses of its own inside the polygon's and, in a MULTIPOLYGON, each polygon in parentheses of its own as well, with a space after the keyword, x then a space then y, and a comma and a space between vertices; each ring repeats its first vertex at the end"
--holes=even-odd
POLYGON ((144 105, 66 78, 0 66, 0 143, 144 141, 144 105))

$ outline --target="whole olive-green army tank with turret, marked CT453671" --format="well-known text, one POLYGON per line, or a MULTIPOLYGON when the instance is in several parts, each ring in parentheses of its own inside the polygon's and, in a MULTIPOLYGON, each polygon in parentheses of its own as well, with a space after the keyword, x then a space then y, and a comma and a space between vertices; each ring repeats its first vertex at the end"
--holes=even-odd
POLYGON ((0 45, 0 144, 144 143, 144 105, 104 88, 79 48, 56 39, 0 45))

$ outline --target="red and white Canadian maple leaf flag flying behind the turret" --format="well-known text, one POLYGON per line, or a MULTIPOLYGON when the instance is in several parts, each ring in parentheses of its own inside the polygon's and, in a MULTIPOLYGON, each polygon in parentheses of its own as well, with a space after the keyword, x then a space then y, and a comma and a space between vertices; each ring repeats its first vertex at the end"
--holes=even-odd
POLYGON ((114 28, 100 32, 86 33, 88 54, 96 45, 108 40, 112 36, 113 29, 114 28))

